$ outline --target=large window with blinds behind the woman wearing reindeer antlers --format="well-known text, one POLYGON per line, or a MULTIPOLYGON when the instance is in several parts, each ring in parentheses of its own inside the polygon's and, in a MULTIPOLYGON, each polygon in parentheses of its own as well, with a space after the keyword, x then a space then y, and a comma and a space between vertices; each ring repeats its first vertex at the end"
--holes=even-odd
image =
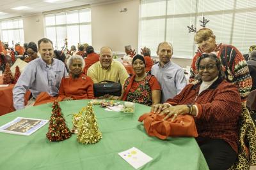
POLYGON ((202 28, 202 16, 216 42, 236 46, 241 53, 255 45, 256 1, 249 0, 141 0, 139 49, 147 46, 156 56, 161 41, 173 44, 173 57, 193 58, 197 50, 195 33, 188 25, 202 28), (254 1, 253 1, 254 2, 254 1))

